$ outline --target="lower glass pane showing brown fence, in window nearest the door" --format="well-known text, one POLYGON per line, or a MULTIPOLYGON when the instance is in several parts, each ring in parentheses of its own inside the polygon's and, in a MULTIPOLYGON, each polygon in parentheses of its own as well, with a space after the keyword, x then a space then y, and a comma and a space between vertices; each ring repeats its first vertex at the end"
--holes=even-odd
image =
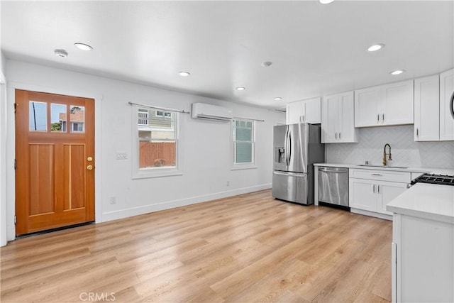
POLYGON ((176 166, 176 141, 143 141, 139 139, 139 169, 176 166))

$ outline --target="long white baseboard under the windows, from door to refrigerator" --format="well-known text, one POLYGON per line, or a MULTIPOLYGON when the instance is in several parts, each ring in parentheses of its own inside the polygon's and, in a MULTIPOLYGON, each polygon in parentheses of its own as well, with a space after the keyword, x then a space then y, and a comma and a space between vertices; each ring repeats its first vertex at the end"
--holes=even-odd
MULTIPOLYGON (((254 187, 245 187, 240 189, 233 189, 227 192, 216 192, 214 194, 204 194, 201 196, 190 197, 186 199, 179 199, 173 201, 162 202, 159 204, 150 204, 139 207, 133 207, 131 209, 121 209, 118 211, 109 211, 102 214, 102 222, 112 221, 116 219, 128 218, 130 216, 138 216, 140 214, 148 214, 153 211, 162 211, 165 209, 174 209, 176 207, 187 206, 190 204, 196 204, 201 202, 207 202, 215 199, 221 199, 226 197, 233 197, 238 194, 248 194, 249 192, 258 192, 264 189, 270 189, 272 184, 261 184, 254 187)), ((99 222, 101 223, 101 222, 99 222)))

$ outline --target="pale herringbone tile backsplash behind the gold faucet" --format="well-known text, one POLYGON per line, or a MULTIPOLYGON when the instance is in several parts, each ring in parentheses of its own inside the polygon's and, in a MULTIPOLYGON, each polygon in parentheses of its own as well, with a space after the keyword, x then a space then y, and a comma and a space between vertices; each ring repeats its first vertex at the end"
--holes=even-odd
POLYGON ((326 144, 326 162, 381 165, 386 143, 391 145, 390 166, 454 169, 454 141, 415 142, 412 125, 360 128, 358 143, 326 144))

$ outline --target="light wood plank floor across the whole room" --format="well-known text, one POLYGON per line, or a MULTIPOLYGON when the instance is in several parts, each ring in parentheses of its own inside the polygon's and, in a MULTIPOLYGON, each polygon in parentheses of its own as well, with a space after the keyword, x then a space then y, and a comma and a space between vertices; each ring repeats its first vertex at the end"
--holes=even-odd
POLYGON ((1 302, 387 302, 391 241, 390 221, 255 192, 13 241, 1 302))

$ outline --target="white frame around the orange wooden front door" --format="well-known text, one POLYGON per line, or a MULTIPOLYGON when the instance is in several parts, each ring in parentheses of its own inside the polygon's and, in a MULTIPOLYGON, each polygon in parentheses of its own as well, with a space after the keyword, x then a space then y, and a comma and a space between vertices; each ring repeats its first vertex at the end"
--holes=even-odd
MULTIPOLYGON (((102 97, 92 92, 71 91, 57 87, 44 87, 43 85, 27 84, 20 82, 8 82, 6 89, 6 221, 1 220, 0 230, 6 230, 6 241, 16 238, 16 172, 14 170, 14 158, 16 158, 16 120, 14 115, 14 103, 16 102, 16 89, 32 92, 45 92, 50 94, 62 94, 74 97, 94 99, 94 162, 97 169, 94 172, 94 218, 96 223, 102 221, 102 197, 101 197, 101 105, 102 97), (5 222, 5 223, 4 223, 5 222)), ((1 111, 0 111, 1 114, 1 111)), ((3 128, 2 128, 3 129, 3 128)), ((3 183, 3 182, 2 182, 3 183)), ((3 184, 0 184, 3 186, 3 184)), ((0 196, 1 197, 1 196, 0 196)), ((0 214, 3 214, 2 212, 0 214)), ((0 243, 2 246, 3 243, 0 243)))

